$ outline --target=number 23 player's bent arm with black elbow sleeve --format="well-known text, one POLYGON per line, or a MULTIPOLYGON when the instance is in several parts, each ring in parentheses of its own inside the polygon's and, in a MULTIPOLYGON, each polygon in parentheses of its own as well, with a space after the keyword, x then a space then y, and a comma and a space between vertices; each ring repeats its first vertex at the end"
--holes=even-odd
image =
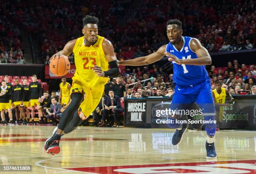
POLYGON ((104 39, 102 42, 102 48, 108 60, 108 64, 110 69, 108 71, 102 71, 101 67, 94 66, 94 72, 97 74, 98 77, 118 77, 119 75, 119 68, 117 64, 117 59, 115 56, 113 45, 107 39, 104 39))

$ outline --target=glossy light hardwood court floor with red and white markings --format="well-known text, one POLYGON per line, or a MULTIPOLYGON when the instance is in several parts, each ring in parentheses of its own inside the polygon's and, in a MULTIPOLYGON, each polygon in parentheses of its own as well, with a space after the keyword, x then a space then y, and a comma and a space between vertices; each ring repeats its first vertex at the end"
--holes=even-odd
POLYGON ((218 131, 218 159, 209 162, 205 131, 186 131, 182 142, 173 146, 172 129, 79 127, 61 138, 61 152, 52 156, 43 146, 53 129, 0 126, 0 165, 32 165, 31 172, 0 173, 256 173, 255 131, 218 131))

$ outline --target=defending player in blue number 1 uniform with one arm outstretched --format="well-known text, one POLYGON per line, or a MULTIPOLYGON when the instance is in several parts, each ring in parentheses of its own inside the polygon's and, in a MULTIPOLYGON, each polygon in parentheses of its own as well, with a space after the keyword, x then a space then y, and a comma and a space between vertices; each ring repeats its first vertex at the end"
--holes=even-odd
MULTIPOLYGON (((182 22, 174 19, 166 24, 169 44, 161 46, 156 52, 136 59, 119 61, 119 65, 141 66, 152 64, 162 59, 169 58, 173 64, 173 80, 176 83, 171 110, 186 110, 193 103, 197 103, 202 110, 207 133, 206 151, 207 159, 217 157, 214 146, 216 124, 214 122, 215 107, 212 99, 210 78, 205 65, 210 65, 212 59, 207 49, 196 38, 182 36, 182 22)), ((180 119, 182 115, 172 113, 169 120, 180 119), (174 115, 174 116, 173 116, 174 115)), ((172 137, 172 144, 177 145, 187 129, 187 124, 168 124, 169 128, 176 128, 172 137)))

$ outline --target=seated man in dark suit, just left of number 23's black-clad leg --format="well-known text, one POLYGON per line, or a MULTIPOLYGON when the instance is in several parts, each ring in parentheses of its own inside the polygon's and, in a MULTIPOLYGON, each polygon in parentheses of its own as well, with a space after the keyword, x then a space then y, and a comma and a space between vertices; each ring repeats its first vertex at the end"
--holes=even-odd
POLYGON ((56 98, 51 98, 50 110, 46 109, 46 118, 52 121, 52 125, 57 125, 57 120, 61 118, 61 105, 57 102, 56 98))

